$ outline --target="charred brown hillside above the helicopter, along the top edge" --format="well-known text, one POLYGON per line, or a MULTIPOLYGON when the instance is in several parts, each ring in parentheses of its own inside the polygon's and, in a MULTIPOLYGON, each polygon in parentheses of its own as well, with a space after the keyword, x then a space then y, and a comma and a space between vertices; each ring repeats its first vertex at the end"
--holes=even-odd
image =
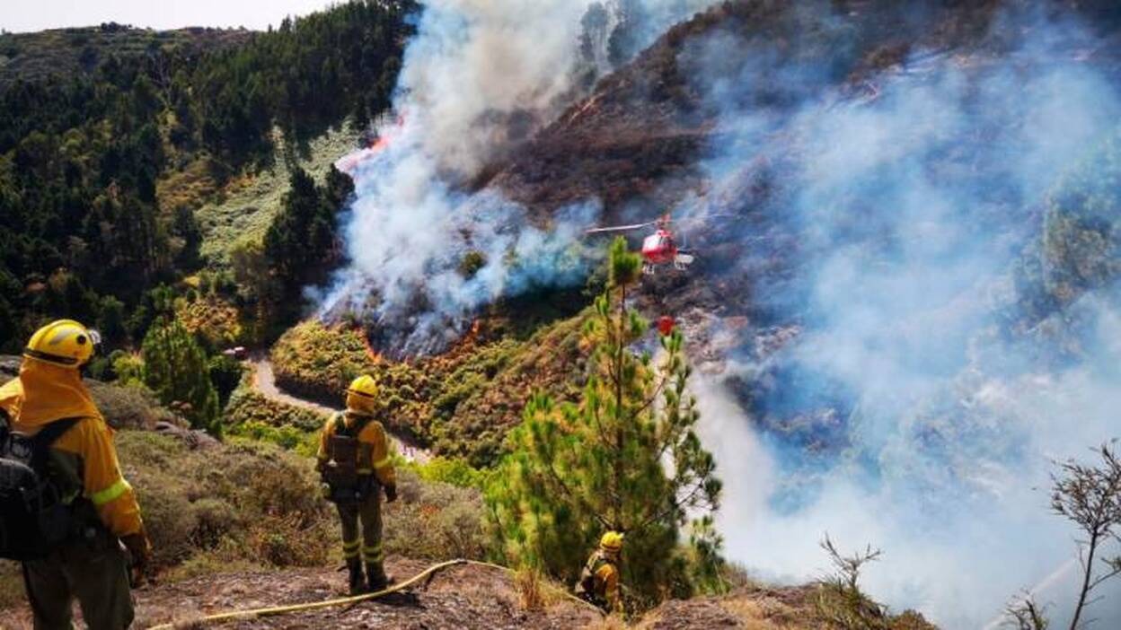
POLYGON ((860 90, 863 77, 901 63, 911 50, 980 45, 1002 2, 927 2, 918 11, 916 4, 924 3, 837 1, 819 11, 780 1, 725 2, 675 26, 604 77, 591 96, 492 166, 484 180, 546 211, 596 196, 611 210, 637 201, 657 213, 702 184, 696 163, 720 141, 720 112, 706 99, 706 85, 750 78, 758 82, 756 104, 779 111, 809 92, 860 90), (828 68, 813 85, 791 85, 778 74, 736 76, 741 68, 729 58, 715 68, 725 76, 714 76, 697 58, 711 37, 738 48, 766 46, 775 66, 828 68))

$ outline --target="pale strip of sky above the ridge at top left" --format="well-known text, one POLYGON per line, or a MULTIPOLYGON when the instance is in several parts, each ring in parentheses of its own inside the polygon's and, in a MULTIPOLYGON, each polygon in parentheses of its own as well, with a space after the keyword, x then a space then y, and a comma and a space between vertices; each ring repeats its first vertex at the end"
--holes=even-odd
POLYGON ((187 26, 245 27, 263 30, 286 16, 303 16, 327 7, 328 0, 39 0, 4 2, 0 28, 11 33, 96 26, 115 21, 141 28, 187 26))

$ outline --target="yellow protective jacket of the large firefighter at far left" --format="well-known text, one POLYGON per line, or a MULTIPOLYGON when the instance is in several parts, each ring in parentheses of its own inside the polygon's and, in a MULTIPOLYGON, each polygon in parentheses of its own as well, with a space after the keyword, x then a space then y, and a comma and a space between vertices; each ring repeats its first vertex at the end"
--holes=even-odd
POLYGON ((82 418, 55 441, 53 451, 73 462, 82 494, 113 535, 142 530, 140 506, 117 461, 113 430, 77 370, 24 358, 19 377, 0 387, 0 408, 11 418, 12 430, 26 435, 54 420, 82 418))

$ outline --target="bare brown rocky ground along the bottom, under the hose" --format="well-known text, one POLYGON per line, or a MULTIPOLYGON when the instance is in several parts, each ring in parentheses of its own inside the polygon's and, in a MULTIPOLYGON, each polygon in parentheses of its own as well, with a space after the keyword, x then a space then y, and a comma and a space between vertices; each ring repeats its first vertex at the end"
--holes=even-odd
MULTIPOLYGON (((430 566, 409 559, 390 559, 389 572, 405 581, 430 566)), ((177 628, 201 628, 206 614, 318 602, 342 597, 345 576, 331 568, 282 572, 235 572, 187 580, 175 584, 150 584, 136 592, 136 628, 174 622, 177 628)), ((512 577, 497 568, 467 565, 437 573, 407 592, 350 606, 325 608, 284 615, 247 618, 214 626, 239 630, 268 628, 395 628, 395 629, 507 629, 539 628, 643 630, 802 630, 836 628, 818 608, 814 585, 791 587, 745 586, 723 597, 671 601, 629 620, 629 624, 604 619, 594 610, 554 594, 541 610, 526 610, 512 577)), ((75 615, 80 613, 75 610, 75 615)), ((0 628, 29 630, 26 606, 0 611, 0 628)), ((930 630, 918 615, 905 613, 877 628, 930 630)))

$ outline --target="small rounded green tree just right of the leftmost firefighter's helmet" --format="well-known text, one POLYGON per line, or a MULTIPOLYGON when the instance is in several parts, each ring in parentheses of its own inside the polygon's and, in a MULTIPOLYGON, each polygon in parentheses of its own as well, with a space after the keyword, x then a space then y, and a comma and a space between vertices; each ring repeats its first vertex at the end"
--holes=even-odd
POLYGON ((148 330, 140 353, 145 385, 191 420, 192 427, 221 435, 210 364, 191 332, 178 319, 157 322, 148 330))

